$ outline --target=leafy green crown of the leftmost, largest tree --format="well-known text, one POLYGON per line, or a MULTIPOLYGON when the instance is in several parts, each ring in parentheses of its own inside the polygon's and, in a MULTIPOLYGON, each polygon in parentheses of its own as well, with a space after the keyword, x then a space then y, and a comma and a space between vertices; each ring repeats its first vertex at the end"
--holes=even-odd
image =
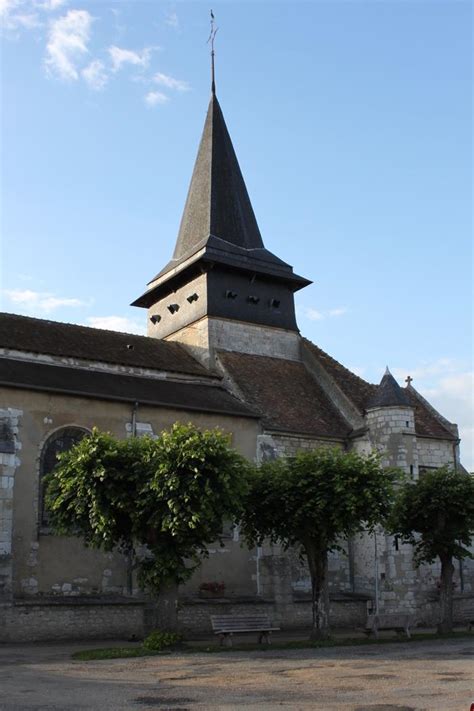
POLYGON ((219 430, 175 424, 157 439, 94 429, 46 477, 50 523, 87 546, 138 556, 139 582, 157 593, 186 580, 242 511, 251 465, 219 430))

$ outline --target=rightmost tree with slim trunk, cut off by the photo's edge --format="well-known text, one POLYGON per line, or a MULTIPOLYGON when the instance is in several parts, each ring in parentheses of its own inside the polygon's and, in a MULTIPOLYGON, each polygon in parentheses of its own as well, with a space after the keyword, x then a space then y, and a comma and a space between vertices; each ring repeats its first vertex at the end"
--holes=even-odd
POLYGON ((474 478, 448 466, 406 482, 393 508, 391 531, 414 546, 416 563, 441 562, 438 631, 453 629, 453 558, 472 558, 474 478))

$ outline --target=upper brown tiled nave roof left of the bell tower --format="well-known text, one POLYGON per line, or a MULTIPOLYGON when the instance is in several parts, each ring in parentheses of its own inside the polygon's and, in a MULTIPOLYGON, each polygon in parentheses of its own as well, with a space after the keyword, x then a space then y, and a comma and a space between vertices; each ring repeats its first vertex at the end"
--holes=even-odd
POLYGON ((0 348, 209 377, 178 343, 16 314, 0 313, 0 348))

